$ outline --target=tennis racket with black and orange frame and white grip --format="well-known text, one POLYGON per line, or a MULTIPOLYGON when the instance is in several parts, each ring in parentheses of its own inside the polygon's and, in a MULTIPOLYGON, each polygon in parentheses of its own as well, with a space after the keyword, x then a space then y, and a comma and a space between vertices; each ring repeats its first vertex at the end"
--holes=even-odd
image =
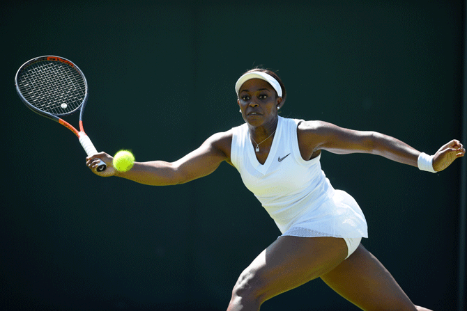
MULTIPOLYGON (((88 83, 77 65, 58 56, 40 56, 24 63, 15 76, 18 95, 26 106, 45 118, 67 127, 75 133, 90 157, 98 153, 84 133, 83 113, 88 101, 88 83), (79 110, 79 131, 61 117, 79 110)), ((97 170, 107 168, 103 161, 97 170)))

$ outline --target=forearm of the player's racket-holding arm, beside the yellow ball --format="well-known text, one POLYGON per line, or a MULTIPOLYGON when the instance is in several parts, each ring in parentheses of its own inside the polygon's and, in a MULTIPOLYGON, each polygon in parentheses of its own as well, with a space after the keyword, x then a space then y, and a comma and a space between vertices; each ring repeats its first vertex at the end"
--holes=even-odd
POLYGON ((176 168, 165 161, 135 162, 127 172, 116 172, 115 176, 150 186, 181 184, 176 168))

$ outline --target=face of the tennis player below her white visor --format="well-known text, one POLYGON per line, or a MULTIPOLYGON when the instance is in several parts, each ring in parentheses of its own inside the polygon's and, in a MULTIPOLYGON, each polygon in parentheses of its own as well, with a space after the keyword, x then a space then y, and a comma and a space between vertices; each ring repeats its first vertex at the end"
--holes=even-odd
POLYGON ((281 102, 282 97, 277 97, 274 88, 261 79, 245 81, 238 91, 243 120, 255 127, 275 120, 281 102))

